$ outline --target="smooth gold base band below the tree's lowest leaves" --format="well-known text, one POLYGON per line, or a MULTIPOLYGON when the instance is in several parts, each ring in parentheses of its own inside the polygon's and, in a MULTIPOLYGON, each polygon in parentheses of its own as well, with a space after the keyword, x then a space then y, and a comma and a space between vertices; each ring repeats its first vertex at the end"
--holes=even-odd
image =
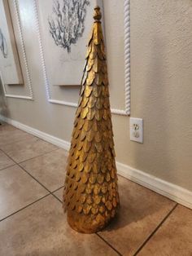
POLYGON ((85 215, 78 214, 75 210, 68 210, 68 224, 76 232, 93 234, 100 232, 103 228, 111 222, 111 217, 103 218, 102 215, 98 215, 95 218, 95 215, 85 215))

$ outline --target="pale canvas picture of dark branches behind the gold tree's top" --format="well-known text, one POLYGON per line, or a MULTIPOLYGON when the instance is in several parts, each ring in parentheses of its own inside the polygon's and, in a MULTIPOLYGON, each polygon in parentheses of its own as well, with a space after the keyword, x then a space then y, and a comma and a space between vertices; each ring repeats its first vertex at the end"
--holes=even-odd
POLYGON ((78 86, 94 7, 102 0, 37 1, 41 40, 50 86, 78 86))

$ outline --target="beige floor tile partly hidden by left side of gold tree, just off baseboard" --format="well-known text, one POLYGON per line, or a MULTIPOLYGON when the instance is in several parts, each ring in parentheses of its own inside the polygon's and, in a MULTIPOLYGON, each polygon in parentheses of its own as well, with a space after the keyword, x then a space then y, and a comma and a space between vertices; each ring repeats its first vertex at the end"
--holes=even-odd
POLYGON ((44 156, 24 161, 20 166, 23 166, 24 170, 32 174, 50 191, 55 191, 63 186, 67 157, 67 152, 59 149, 44 156))

